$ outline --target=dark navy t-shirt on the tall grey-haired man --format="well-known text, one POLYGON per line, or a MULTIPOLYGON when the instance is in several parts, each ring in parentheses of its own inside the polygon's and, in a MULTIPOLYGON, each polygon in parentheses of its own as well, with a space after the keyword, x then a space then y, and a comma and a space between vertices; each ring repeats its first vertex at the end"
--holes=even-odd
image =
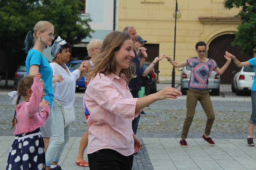
POLYGON ((135 50, 133 50, 135 57, 132 58, 132 61, 134 62, 135 66, 136 66, 136 74, 137 77, 132 78, 131 81, 129 82, 129 89, 131 89, 131 91, 135 92, 135 91, 140 91, 140 60, 139 57, 136 53, 135 50))

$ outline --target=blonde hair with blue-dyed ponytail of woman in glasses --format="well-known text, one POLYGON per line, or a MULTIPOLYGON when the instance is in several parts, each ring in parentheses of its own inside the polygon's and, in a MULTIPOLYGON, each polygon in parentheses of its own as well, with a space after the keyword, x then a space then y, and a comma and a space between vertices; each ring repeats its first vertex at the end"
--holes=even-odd
POLYGON ((28 53, 28 51, 35 45, 35 41, 37 39, 36 33, 38 31, 44 32, 49 28, 54 29, 54 26, 49 21, 38 21, 36 23, 36 25, 34 26, 33 31, 28 32, 28 34, 24 40, 25 48, 23 50, 25 50, 26 53, 28 53))

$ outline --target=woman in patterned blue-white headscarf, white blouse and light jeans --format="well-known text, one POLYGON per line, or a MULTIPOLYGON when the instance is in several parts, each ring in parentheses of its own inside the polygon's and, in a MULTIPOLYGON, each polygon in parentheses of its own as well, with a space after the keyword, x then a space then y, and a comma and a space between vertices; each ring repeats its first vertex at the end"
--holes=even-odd
POLYGON ((66 124, 67 120, 63 114, 65 115, 65 109, 69 110, 68 113, 75 114, 76 80, 81 79, 83 76, 81 73, 87 69, 87 63, 89 65, 89 62, 85 61, 81 63, 78 69, 71 73, 65 64, 65 62, 69 61, 70 57, 69 47, 70 44, 59 36, 58 39, 54 41, 51 50, 53 62, 50 63, 50 65, 53 74, 62 75, 64 81, 53 84, 54 100, 51 108, 52 142, 45 156, 46 170, 61 170, 58 162, 70 136, 70 124, 66 124))

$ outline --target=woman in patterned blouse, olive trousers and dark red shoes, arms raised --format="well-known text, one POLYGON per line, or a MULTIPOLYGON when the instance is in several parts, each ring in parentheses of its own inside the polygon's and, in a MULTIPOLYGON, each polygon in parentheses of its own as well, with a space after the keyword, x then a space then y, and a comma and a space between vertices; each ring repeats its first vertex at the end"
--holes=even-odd
POLYGON ((196 57, 191 57, 188 60, 180 63, 171 60, 171 58, 167 55, 162 56, 163 58, 167 58, 167 60, 174 67, 184 67, 188 65, 191 66, 191 75, 188 82, 187 116, 183 124, 180 139, 180 145, 182 147, 188 147, 185 139, 188 136, 188 130, 195 115, 197 101, 201 103, 207 116, 203 139, 208 142, 209 145, 215 145, 213 140, 209 137, 212 129, 212 124, 215 119, 215 114, 209 95, 208 79, 211 76, 213 70, 219 74, 223 74, 223 72, 227 69, 228 65, 231 62, 231 59, 226 57, 228 53, 226 52, 226 55, 224 55, 224 57, 227 59, 227 62, 223 67, 219 68, 214 60, 206 58, 204 56, 206 52, 206 44, 203 41, 196 43, 196 52, 196 57))

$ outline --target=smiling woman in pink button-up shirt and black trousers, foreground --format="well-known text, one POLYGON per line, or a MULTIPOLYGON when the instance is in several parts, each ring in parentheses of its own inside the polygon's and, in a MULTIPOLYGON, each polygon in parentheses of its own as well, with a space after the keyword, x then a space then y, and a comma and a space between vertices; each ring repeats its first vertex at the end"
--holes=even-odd
POLYGON ((111 32, 87 74, 85 105, 90 112, 87 154, 91 170, 132 169, 133 153, 140 149, 132 120, 149 104, 181 95, 179 90, 166 87, 146 97, 132 98, 128 84, 135 76, 132 72, 136 73, 131 61, 134 57, 129 34, 111 32))

